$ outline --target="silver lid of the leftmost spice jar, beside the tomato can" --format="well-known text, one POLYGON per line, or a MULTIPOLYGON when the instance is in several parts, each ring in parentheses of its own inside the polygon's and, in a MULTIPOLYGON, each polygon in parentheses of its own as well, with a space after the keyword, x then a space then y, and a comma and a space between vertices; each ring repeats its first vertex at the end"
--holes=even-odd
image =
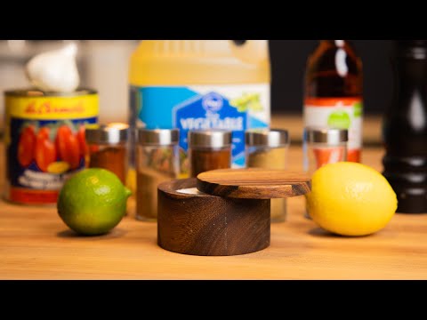
POLYGON ((116 144, 127 141, 129 132, 128 124, 112 123, 87 125, 85 137, 89 143, 116 144))

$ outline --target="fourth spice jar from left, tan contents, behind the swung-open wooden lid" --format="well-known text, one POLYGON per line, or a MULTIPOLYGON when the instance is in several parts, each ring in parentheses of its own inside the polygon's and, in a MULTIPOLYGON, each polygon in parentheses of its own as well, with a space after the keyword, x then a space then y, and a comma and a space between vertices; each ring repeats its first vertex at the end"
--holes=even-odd
MULTIPOLYGON (((246 131, 246 167, 287 169, 290 144, 286 130, 253 129, 246 131)), ((271 199, 271 222, 286 220, 286 199, 271 199)))

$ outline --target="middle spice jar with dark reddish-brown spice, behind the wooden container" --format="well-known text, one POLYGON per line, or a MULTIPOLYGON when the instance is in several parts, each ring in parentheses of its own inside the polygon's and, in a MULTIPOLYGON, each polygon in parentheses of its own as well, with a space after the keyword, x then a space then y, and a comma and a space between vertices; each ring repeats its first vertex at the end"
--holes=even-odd
POLYGON ((230 168, 230 131, 190 131, 188 140, 190 177, 197 177, 201 172, 230 168))

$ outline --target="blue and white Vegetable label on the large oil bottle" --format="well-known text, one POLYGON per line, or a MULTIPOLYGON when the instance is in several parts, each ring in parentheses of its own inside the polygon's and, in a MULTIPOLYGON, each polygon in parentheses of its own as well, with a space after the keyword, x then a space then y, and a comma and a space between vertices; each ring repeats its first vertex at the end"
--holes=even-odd
POLYGON ((232 166, 244 167, 246 129, 270 125, 270 84, 131 87, 130 124, 180 129, 184 175, 189 169, 189 130, 231 130, 232 166))

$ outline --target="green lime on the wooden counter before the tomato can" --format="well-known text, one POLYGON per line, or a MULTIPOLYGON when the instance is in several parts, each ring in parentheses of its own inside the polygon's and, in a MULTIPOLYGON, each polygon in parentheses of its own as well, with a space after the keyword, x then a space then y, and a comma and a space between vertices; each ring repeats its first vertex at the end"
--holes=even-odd
POLYGON ((64 183, 58 213, 65 224, 85 236, 109 232, 125 216, 131 191, 113 172, 91 168, 77 172, 64 183))

